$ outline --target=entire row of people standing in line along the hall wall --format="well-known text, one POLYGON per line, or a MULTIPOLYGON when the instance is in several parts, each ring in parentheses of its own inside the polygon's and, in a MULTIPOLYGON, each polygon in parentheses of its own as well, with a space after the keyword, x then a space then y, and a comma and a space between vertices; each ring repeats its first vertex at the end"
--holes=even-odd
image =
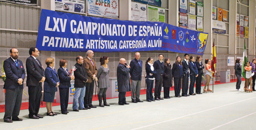
MULTIPOLYGON (((27 86, 29 93, 29 118, 39 119, 43 118, 38 114, 40 108, 40 99, 42 92, 42 82, 44 82, 44 98, 46 102, 47 115, 56 116, 57 114, 52 110, 52 103, 54 101, 55 92, 59 88, 60 108, 62 114, 68 114, 67 111, 69 101, 69 88, 71 87, 71 80, 75 80, 75 94, 73 99, 72 109, 75 112, 79 110, 88 110, 96 108, 92 105, 92 97, 94 90, 94 82, 98 82, 99 92, 99 107, 110 106, 106 102, 106 91, 110 87, 109 82, 109 58, 103 56, 100 58, 100 66, 96 67, 96 62, 93 60, 94 53, 92 50, 87 51, 87 57, 76 57, 76 64, 73 72, 67 69, 67 60, 61 59, 59 61, 59 68, 56 71, 53 67, 55 65, 54 58, 47 58, 45 63, 47 67, 44 69, 41 62, 37 59, 39 51, 36 47, 29 49, 30 57, 26 60, 27 69, 27 86), (103 100, 103 103, 102 103, 103 100)), ((23 62, 18 60, 18 50, 16 48, 10 49, 10 58, 4 61, 4 70, 6 73, 6 82, 4 89, 6 89, 5 97, 5 122, 22 121, 18 118, 23 94, 23 82, 26 76, 23 62)), ((210 60, 205 59, 205 66, 201 61, 201 56, 189 57, 184 55, 184 60, 181 57, 176 58, 175 63, 170 65, 170 59, 165 58, 162 54, 159 55, 157 61, 153 58, 148 58, 145 62, 145 83, 146 83, 146 101, 151 102, 155 100, 163 100, 163 98, 170 98, 169 90, 173 86, 175 96, 190 96, 201 93, 203 69, 206 68, 206 84, 203 92, 211 92, 209 82, 211 74, 214 73, 210 68, 210 60), (188 87, 188 78, 190 77, 190 85, 188 87), (155 81, 155 90, 153 96, 153 85, 155 81), (196 92, 194 86, 196 84, 196 92), (182 86, 182 94, 180 95, 182 86), (161 89, 163 87, 163 98, 161 97, 161 89), (207 87, 207 89, 206 89, 207 87), (189 89, 188 89, 189 88, 189 89)), ((237 90, 240 90, 241 84, 241 66, 240 59, 236 60, 236 75, 238 77, 237 90), (239 64, 239 65, 238 65, 239 64)), ((255 63, 256 59, 249 62, 244 68, 246 70, 246 85, 245 91, 254 90, 255 85, 255 63), (247 74, 248 71, 248 74, 247 74), (253 72, 252 72, 253 71, 253 72), (253 73, 253 74, 252 74, 253 73), (248 77, 247 77, 248 75, 248 77), (251 82, 253 81, 253 83, 251 82), (252 85, 248 89, 248 85, 252 85)), ((118 105, 129 105, 126 102, 125 94, 131 91, 132 102, 143 102, 140 99, 141 89, 141 75, 143 62, 140 60, 140 53, 135 53, 130 65, 126 64, 126 60, 121 58, 117 66, 117 85, 119 92, 118 105), (130 82, 131 78, 131 82, 130 82)))

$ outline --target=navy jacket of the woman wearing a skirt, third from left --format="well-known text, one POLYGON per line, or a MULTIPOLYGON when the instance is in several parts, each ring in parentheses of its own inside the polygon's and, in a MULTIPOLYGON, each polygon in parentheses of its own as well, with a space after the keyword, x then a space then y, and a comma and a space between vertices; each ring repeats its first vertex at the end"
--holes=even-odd
POLYGON ((45 92, 56 92, 57 83, 59 82, 58 74, 56 69, 52 69, 50 66, 46 67, 45 70, 46 80, 44 82, 44 91, 45 92))

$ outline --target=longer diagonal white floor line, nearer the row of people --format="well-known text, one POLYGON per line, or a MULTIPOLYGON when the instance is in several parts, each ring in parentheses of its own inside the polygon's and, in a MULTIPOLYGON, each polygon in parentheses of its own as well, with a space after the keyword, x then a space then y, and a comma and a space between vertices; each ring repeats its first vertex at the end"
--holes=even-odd
MULTIPOLYGON (((249 100, 249 99, 253 99, 253 98, 256 98, 256 97, 252 97, 252 98, 248 98, 248 99, 240 100, 240 101, 233 102, 233 103, 229 103, 229 104, 227 104, 227 105, 223 105, 223 106, 220 106, 220 107, 211 108, 211 109, 208 109, 208 110, 205 110, 205 111, 201 111, 201 112, 197 112, 197 113, 193 113, 193 114, 188 114, 188 115, 181 116, 181 117, 178 117, 178 118, 174 118, 174 119, 170 119, 170 120, 165 120, 165 121, 162 121, 162 122, 158 122, 158 123, 155 123, 155 124, 146 125, 146 126, 142 126, 142 127, 138 127, 138 128, 134 128, 134 129, 140 129, 140 128, 144 128, 144 127, 148 127, 148 126, 152 126, 152 125, 156 125, 156 124, 160 124, 160 123, 164 123, 164 122, 168 122, 168 121, 172 121, 172 120, 180 119, 180 118, 183 118, 183 117, 187 117, 187 116, 195 115, 195 114, 198 114, 198 113, 203 113, 203 112, 206 112, 206 111, 210 111, 210 110, 218 109, 218 108, 221 108, 221 107, 225 107, 225 106, 228 106, 228 105, 232 105, 232 104, 234 104, 234 103, 242 102, 242 101, 249 100)), ((250 114, 250 115, 251 115, 251 114, 250 114)), ((249 115, 248 115, 248 116, 249 116, 249 115)), ((224 125, 225 125, 225 124, 224 124, 224 125)), ((132 129, 132 130, 134 130, 134 129, 132 129)))

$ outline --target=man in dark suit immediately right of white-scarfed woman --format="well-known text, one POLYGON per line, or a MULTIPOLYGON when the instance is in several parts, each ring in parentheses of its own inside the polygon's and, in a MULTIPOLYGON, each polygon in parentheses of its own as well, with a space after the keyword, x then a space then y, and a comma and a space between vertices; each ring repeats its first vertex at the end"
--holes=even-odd
POLYGON ((161 90, 162 90, 162 85, 163 85, 163 55, 159 54, 157 61, 154 62, 154 68, 157 71, 156 74, 156 82, 155 82, 155 100, 163 100, 161 98, 161 90))

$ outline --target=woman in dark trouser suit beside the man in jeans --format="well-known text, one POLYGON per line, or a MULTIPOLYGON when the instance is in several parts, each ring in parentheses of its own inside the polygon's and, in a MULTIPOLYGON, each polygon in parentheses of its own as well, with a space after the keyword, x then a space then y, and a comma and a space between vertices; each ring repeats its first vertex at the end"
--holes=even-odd
POLYGON ((60 109, 62 114, 68 114, 68 103, 69 103, 69 87, 71 87, 70 81, 75 79, 74 75, 69 76, 69 70, 66 68, 68 61, 61 59, 59 61, 59 98, 60 98, 60 109))

